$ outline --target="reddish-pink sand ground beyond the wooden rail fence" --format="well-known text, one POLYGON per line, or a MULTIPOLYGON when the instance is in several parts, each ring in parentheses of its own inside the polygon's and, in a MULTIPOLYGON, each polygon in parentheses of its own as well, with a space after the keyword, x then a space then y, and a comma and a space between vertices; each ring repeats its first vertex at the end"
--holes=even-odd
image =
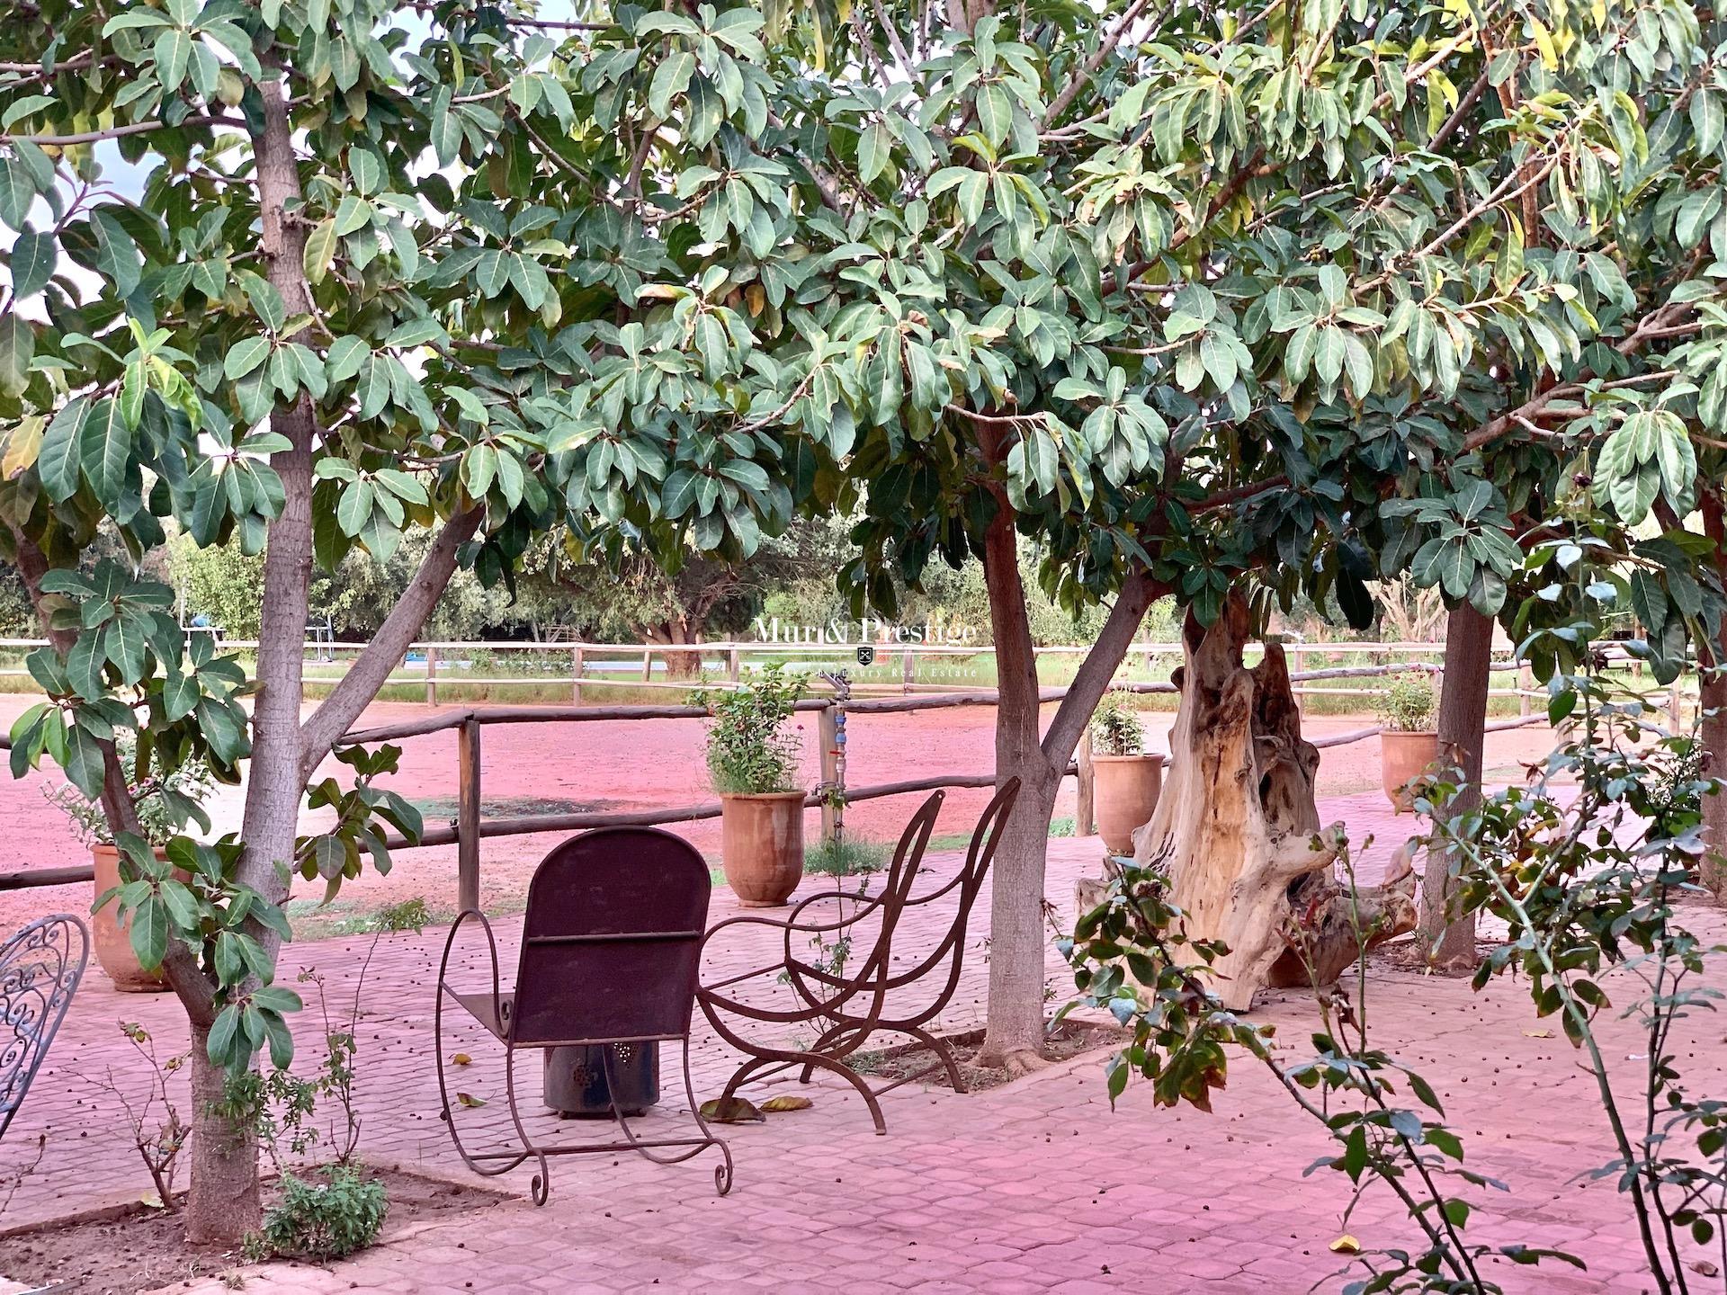
MULTIPOLYGON (((24 696, 0 696, 0 723, 10 722, 31 703, 24 696)), ((1045 718, 1053 711, 1047 708, 1045 718)), ((364 725, 418 718, 425 706, 382 703, 371 706, 364 725)), ((1167 751, 1166 730, 1173 715, 1145 717, 1152 749, 1167 751)), ((815 755, 815 718, 801 717, 807 779, 819 779, 815 755)), ((851 786, 931 777, 936 774, 974 774, 993 765, 995 711, 986 706, 915 711, 910 715, 858 715, 848 725, 848 774, 851 786)), ((1371 723, 1363 717, 1314 717, 1307 736, 1345 732, 1371 723)), ((484 729, 482 791, 487 817, 573 810, 648 810, 698 805, 712 799, 703 767, 703 725, 693 720, 625 720, 592 723, 513 723, 484 729)), ((1534 760, 1551 744, 1544 727, 1489 734, 1489 777, 1515 777, 1516 763, 1534 760)), ((454 732, 411 737, 401 742, 402 768, 392 786, 420 803, 427 822, 444 822, 456 812, 456 736, 454 732)), ((325 772, 347 770, 326 761, 325 772)), ((5 822, 5 851, 0 870, 64 867, 86 858, 85 848, 64 817, 43 799, 41 789, 59 779, 55 770, 28 775, 19 782, 0 780, 0 808, 5 822)), ((1378 786, 1378 744, 1375 741, 1328 748, 1321 753, 1319 793, 1340 796, 1378 786)), ((1074 784, 1062 789, 1057 818, 1072 815, 1074 784)), ((986 791, 948 793, 938 832, 964 832, 976 822, 988 799, 986 791)), ((242 794, 223 787, 211 805, 216 831, 238 825, 242 794)), ((914 801, 905 796, 862 801, 846 812, 848 829, 867 837, 893 841, 914 801)), ((672 824, 718 862, 718 820, 672 824)), ((813 841, 817 813, 807 820, 813 841)), ((482 844, 482 893, 490 906, 520 901, 535 862, 554 837, 522 836, 489 839, 482 844)), ((423 896, 433 910, 449 912, 456 900, 454 846, 404 851, 387 877, 368 872, 351 884, 326 912, 304 912, 323 896, 323 884, 299 884, 295 920, 313 917, 314 927, 351 919, 383 903, 423 896)), ((55 886, 29 891, 0 891, 0 929, 22 924, 47 912, 85 912, 88 888, 55 886)), ((307 931, 307 934, 313 934, 307 931)))

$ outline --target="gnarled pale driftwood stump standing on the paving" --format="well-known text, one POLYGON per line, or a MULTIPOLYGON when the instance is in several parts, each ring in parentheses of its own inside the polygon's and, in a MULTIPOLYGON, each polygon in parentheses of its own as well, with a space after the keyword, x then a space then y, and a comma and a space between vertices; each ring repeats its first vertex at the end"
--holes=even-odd
POLYGON ((1211 629, 1188 613, 1169 770, 1135 834, 1135 862, 1169 877, 1188 936, 1228 944, 1214 988, 1238 1012, 1268 986, 1335 981, 1357 955, 1352 901, 1370 943, 1413 931, 1416 919, 1408 848, 1383 886, 1351 896, 1333 875, 1344 829, 1319 829, 1319 751, 1300 736, 1281 646, 1268 644, 1252 670, 1242 665, 1247 630, 1238 594, 1211 629))

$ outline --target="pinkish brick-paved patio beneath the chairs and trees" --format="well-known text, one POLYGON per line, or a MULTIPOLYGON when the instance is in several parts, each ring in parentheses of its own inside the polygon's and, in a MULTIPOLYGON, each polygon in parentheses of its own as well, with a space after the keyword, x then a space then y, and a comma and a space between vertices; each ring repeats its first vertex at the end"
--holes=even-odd
MULTIPOLYGON (((1408 832, 1376 794, 1321 803, 1325 820, 1344 818, 1354 836, 1380 844, 1378 862, 1408 832)), ((1072 879, 1095 872, 1095 839, 1052 841, 1048 893, 1071 913, 1072 879)), ((957 863, 933 856, 931 881, 957 863)), ((979 905, 986 915, 986 903, 979 905)), ((715 894, 713 920, 732 913, 715 894)), ((1689 913, 1722 938, 1713 910, 1689 913)), ((977 925, 983 925, 983 917, 977 925)), ((515 919, 501 922, 513 932, 515 919)), ((976 934, 981 938, 983 929, 976 934)), ((908 936, 910 938, 910 936, 908 936)), ((359 1026, 363 1153, 425 1174, 468 1179, 437 1117, 432 1072, 432 982, 442 931, 383 936, 376 948, 359 1026)), ((290 946, 285 981, 316 965, 332 986, 351 984, 370 939, 290 946)), ((509 941, 513 950, 513 941, 509 941)), ((739 950, 737 960, 750 950, 739 950)), ((506 951, 506 963, 513 951, 506 951)), ((977 1024, 984 965, 977 948, 945 1029, 977 1024)), ((1052 984, 1071 979, 1050 957, 1052 984)), ((1608 981, 1613 988, 1613 977, 1608 981)), ((1447 1103, 1464 1138, 1470 1167, 1506 1181, 1485 1193, 1470 1235, 1551 1245, 1582 1255, 1572 1269, 1509 1269, 1494 1276, 1513 1292, 1641 1292, 1641 1250, 1611 1183, 1587 1172, 1608 1159, 1604 1121, 1589 1076, 1563 1039, 1540 1038, 1523 989, 1499 984, 1473 995, 1468 984, 1375 972, 1370 1003, 1383 1046, 1420 1069, 1447 1103)), ((1275 995, 1257 1012, 1299 1048, 1311 1007, 1275 995)), ((0 1145, 0 1176, 35 1153, 38 1171, 16 1197, 3 1226, 135 1200, 149 1179, 121 1140, 111 1096, 90 1083, 116 1072, 128 1048, 116 1020, 142 1020, 168 1050, 185 1038, 173 1001, 121 996, 93 972, 79 991, 55 1052, 29 1102, 0 1145)), ((1720 1020, 1694 1022, 1679 1046, 1698 1076, 1727 1072, 1720 1020)), ((1613 1057, 1639 1041, 1610 1026, 1613 1057)), ((302 1041, 313 1033, 306 1020, 302 1041)), ((449 1045, 471 1052, 461 1088, 501 1093, 496 1053, 475 1033, 449 1045)), ((528 1058, 532 1062, 532 1058, 528 1058)), ((302 1057, 311 1065, 313 1057, 302 1057)), ((737 1160, 731 1197, 713 1195, 712 1153, 658 1167, 637 1157, 566 1159, 553 1167, 544 1209, 527 1202, 528 1169, 492 1179, 515 1193, 485 1210, 402 1231, 333 1271, 268 1266, 245 1276, 249 1292, 584 1292, 639 1290, 1147 1290, 1300 1292, 1340 1267, 1326 1245, 1344 1231, 1338 1174, 1302 1178, 1328 1150, 1323 1133, 1295 1110, 1271 1077, 1245 1062, 1214 1114, 1155 1110, 1129 1088, 1110 1112, 1104 1053, 1053 1065, 1005 1088, 974 1095, 907 1086, 884 1098, 889 1133, 877 1138, 851 1091, 817 1081, 810 1110, 765 1126, 724 1129, 737 1160)), ((712 1096, 732 1055, 698 1033, 696 1090, 712 1096)), ((1634 1071, 1635 1062, 1627 1065, 1634 1071)), ((537 1077, 523 1065, 528 1093, 537 1077)), ((670 1086, 667 1086, 667 1091, 670 1086)), ((675 1117, 668 1103, 649 1117, 675 1117)), ((487 1119, 503 1102, 465 1112, 487 1119)), ((1347 1231, 1370 1247, 1413 1241, 1390 1197, 1373 1191, 1347 1231)), ((174 1290, 185 1290, 174 1286, 174 1290)), ((192 1290, 216 1292, 209 1281, 192 1290)))

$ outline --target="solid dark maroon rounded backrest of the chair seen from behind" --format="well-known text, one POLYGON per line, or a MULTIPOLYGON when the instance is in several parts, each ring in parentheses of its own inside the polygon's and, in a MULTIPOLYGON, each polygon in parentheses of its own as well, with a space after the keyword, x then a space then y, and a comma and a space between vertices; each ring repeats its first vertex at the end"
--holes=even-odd
POLYGON ((553 850, 528 884, 511 1043, 689 1034, 713 882, 655 827, 601 827, 553 850))

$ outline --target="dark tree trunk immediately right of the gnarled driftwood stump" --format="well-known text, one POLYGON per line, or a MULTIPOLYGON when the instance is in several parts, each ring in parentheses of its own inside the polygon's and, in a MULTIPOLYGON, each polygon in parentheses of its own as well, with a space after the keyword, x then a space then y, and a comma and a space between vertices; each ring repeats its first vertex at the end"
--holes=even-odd
MULTIPOLYGON (((1482 803, 1482 749, 1487 741, 1487 682, 1492 663, 1494 622, 1468 603, 1445 620, 1445 677, 1439 691, 1439 749, 1463 770, 1449 817, 1482 803)), ((1433 967, 1463 974, 1475 969, 1475 917, 1454 912, 1456 884, 1451 851, 1430 850, 1421 875, 1420 939, 1433 967)))

